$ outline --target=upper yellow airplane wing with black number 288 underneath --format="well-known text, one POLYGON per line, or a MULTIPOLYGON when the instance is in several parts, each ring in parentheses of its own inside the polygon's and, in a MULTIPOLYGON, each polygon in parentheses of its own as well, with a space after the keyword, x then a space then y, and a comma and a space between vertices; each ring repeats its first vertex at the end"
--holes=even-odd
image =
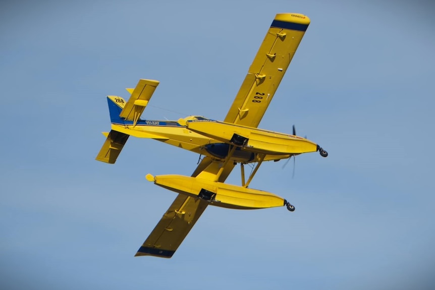
POLYGON ((275 16, 224 122, 258 126, 309 23, 302 14, 275 16))

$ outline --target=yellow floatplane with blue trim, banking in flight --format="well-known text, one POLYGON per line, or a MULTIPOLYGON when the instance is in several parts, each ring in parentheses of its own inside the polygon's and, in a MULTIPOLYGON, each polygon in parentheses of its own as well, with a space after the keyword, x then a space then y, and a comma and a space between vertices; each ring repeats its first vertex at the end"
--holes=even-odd
MULTIPOLYGON (((278 161, 302 153, 328 153, 316 143, 296 136, 257 129, 310 23, 296 13, 277 14, 249 68, 239 92, 223 122, 200 116, 178 121, 142 120, 159 82, 139 80, 125 101, 107 96, 112 130, 96 160, 115 163, 129 136, 151 138, 204 155, 189 176, 146 175, 154 184, 177 192, 178 196, 162 216, 135 256, 171 258, 208 205, 234 209, 294 206, 270 192, 249 188, 263 161, 278 161), (225 184, 240 164, 241 185, 225 184), (256 163, 246 180, 244 164, 256 163)), ((200 155, 200 158, 201 158, 200 155)))

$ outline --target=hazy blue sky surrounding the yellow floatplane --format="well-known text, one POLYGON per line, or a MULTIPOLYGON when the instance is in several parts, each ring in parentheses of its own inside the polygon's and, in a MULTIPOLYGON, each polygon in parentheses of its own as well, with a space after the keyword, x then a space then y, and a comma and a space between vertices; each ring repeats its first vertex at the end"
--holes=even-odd
MULTIPOLYGON (((433 289, 430 1, 3 1, 0 288, 433 289), (311 24, 260 128, 317 153, 252 188, 295 205, 208 207, 172 259, 133 257, 198 156, 130 138, 95 161, 106 95, 156 79, 143 118, 223 120, 277 13, 311 24), (165 109, 162 109, 165 108, 165 109)), ((240 183, 239 170, 227 180, 240 183)))

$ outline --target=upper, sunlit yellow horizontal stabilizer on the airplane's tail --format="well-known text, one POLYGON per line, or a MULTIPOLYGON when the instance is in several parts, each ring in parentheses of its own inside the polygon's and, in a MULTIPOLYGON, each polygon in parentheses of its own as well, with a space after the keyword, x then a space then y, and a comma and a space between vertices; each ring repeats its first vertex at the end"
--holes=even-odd
POLYGON ((133 91, 127 89, 131 91, 131 96, 119 117, 133 121, 133 125, 136 125, 158 84, 158 81, 140 79, 133 91))

